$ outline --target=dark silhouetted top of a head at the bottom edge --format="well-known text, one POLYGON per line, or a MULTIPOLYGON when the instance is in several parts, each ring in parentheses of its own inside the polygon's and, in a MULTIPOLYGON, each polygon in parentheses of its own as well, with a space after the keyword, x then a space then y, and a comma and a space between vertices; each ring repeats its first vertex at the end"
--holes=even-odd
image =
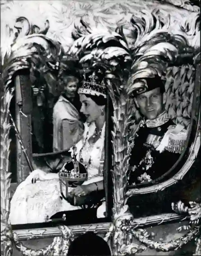
POLYGON ((111 251, 103 238, 86 232, 71 243, 67 255, 111 255, 111 251))

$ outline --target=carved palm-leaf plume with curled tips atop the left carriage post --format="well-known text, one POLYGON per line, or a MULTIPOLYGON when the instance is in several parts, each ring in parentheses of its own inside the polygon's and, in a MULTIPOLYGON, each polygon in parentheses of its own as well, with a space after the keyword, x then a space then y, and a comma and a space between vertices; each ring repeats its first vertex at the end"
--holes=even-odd
POLYGON ((49 21, 46 20, 45 28, 40 30, 26 17, 19 17, 16 19, 15 28, 17 32, 9 31, 10 45, 7 46, 6 42, 1 45, 1 77, 4 89, 9 87, 17 71, 28 69, 33 85, 37 84, 37 87, 40 87, 46 83, 52 92, 64 50, 59 42, 45 35, 49 29, 49 21), (41 83, 38 79, 41 79, 41 83))

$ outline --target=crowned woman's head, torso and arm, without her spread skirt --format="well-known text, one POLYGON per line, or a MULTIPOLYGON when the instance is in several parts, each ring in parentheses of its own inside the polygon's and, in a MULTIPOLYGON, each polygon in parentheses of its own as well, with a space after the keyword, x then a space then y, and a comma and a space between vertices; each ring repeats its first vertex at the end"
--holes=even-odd
POLYGON ((104 139, 106 87, 99 76, 93 72, 84 79, 78 89, 81 101, 80 111, 86 116, 83 138, 72 150, 77 161, 83 163, 88 172, 88 180, 73 189, 73 196, 86 195, 92 191, 103 190, 104 139))

